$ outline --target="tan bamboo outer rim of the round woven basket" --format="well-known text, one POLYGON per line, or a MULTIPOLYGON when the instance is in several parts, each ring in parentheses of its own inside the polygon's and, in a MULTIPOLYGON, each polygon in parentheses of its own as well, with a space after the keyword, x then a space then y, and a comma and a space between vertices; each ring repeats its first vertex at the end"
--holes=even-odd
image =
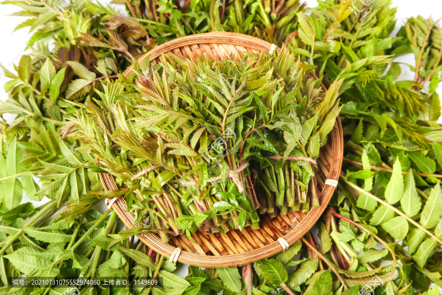
MULTIPOLYGON (((210 32, 203 34, 195 34, 190 36, 185 36, 181 38, 177 38, 171 41, 168 41, 162 45, 157 46, 151 51, 145 53, 142 57, 140 57, 137 62, 141 63, 145 59, 149 59, 153 61, 155 59, 161 58, 163 53, 168 53, 172 50, 176 50, 178 48, 184 46, 193 46, 197 44, 207 44, 207 43, 216 43, 216 44, 228 44, 233 46, 241 46, 250 48, 255 51, 266 51, 269 52, 272 49, 272 44, 261 40, 256 37, 252 37, 249 35, 244 35, 240 33, 232 33, 232 32, 210 32)), ((276 48, 278 49, 278 48, 276 48)), ((172 52, 173 53, 173 52, 172 52)), ((195 59, 194 56, 191 56, 192 59, 195 59)), ((135 63, 132 64, 129 68, 124 71, 124 76, 129 78, 134 73, 135 63)), ((314 77, 318 79, 314 73, 312 73, 310 77, 314 77)), ((324 89, 324 85, 322 85, 324 89)), ((339 174, 342 167, 343 160, 343 132, 340 118, 336 118, 335 125, 330 133, 329 143, 331 143, 331 166, 328 179, 338 180, 339 174)), ((322 149, 321 149, 322 150, 322 149)), ((103 183, 103 186, 106 190, 117 189, 114 178, 110 174, 100 173, 100 179, 103 183)), ((289 245, 293 245, 297 241, 301 239, 316 223, 316 221, 320 218, 325 208, 328 206, 331 196, 335 190, 334 186, 324 185, 320 192, 319 202, 320 207, 311 207, 301 222, 290 232, 283 236, 283 238, 288 242, 289 245)), ((109 201, 109 199, 107 199, 109 201)), ((117 198, 112 201, 111 207, 115 210, 118 217, 124 222, 126 228, 133 228, 133 221, 135 219, 135 215, 133 212, 127 212, 127 206, 124 198, 117 198)), ((138 225, 141 225, 138 224, 138 225)), ((246 230, 246 229, 244 229, 246 230)), ((243 230, 243 231, 244 231, 243 230)), ((163 243, 160 237, 156 234, 146 234, 142 233, 138 236, 138 238, 149 246, 151 249, 164 255, 166 257, 170 257, 176 247, 173 247, 169 243, 163 243)), ((198 266, 198 267, 208 267, 208 268, 221 268, 221 267, 237 267, 243 266, 252 262, 256 262, 270 256, 274 256, 277 253, 282 251, 281 244, 275 240, 268 245, 263 247, 259 247, 254 250, 246 251, 244 253, 239 254, 229 254, 229 255, 204 255, 204 254, 195 254, 188 251, 181 251, 178 262, 198 266)))

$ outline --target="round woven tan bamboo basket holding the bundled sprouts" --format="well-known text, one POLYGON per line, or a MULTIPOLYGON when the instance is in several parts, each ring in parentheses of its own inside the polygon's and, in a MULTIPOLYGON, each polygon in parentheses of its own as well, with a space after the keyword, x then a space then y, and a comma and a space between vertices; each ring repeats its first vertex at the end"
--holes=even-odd
MULTIPOLYGON (((138 62, 149 59, 155 65, 162 59, 162 54, 168 53, 180 58, 196 60, 203 55, 207 59, 222 59, 234 58, 243 52, 273 52, 275 49, 275 45, 249 35, 213 32, 166 42, 144 54, 138 62)), ((133 69, 134 64, 124 72, 124 75, 130 77, 134 73, 133 69)), ((313 73, 309 75, 317 78, 313 73)), ((195 242, 185 235, 172 237, 168 243, 163 243, 155 234, 141 234, 138 238, 166 257, 199 267, 244 266, 273 256, 283 250, 282 243, 285 241, 292 245, 300 240, 324 212, 335 190, 342 160, 343 134, 338 117, 329 134, 328 142, 321 148, 319 159, 317 159, 316 175, 320 191, 320 207, 311 207, 305 215, 301 211, 289 212, 285 216, 279 215, 273 219, 267 215, 261 215, 260 229, 256 231, 246 227, 243 231, 231 230, 227 234, 204 235, 202 232, 196 232, 192 236, 195 242), (283 240, 281 241, 280 238, 283 240), (180 252, 179 256, 176 255, 177 252, 180 252)), ((100 174, 100 177, 106 190, 118 189, 110 174, 100 174)), ((135 216, 132 212, 126 212, 127 206, 124 198, 107 199, 107 204, 115 210, 127 228, 134 227, 135 216)))

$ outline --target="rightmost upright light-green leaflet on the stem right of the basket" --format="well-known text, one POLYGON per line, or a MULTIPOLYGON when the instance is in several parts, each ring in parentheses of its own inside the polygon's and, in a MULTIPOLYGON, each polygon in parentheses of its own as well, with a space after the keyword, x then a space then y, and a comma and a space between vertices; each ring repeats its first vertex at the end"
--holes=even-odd
POLYGON ((420 224, 426 228, 433 228, 442 216, 442 192, 441 184, 438 183, 431 189, 428 201, 420 214, 420 224))

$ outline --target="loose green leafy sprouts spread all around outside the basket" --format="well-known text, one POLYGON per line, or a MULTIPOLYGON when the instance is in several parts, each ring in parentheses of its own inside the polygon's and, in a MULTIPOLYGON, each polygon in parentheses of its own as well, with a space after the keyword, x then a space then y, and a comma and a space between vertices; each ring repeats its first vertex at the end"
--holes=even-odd
POLYGON ((1 294, 74 291, 7 287, 9 277, 21 275, 131 282, 76 286, 82 295, 440 294, 438 20, 399 22, 404 3, 397 8, 391 0, 319 0, 315 7, 298 0, 112 2, 116 10, 86 1, 69 18, 74 7, 60 16, 58 0, 1 2, 20 7, 14 15, 26 19, 15 29, 29 30, 29 51, 13 70, 3 68, 8 100, 0 114, 17 117, 4 116, 0 124, 1 294), (103 169, 79 141, 59 134, 78 109, 109 104, 95 89, 109 93, 101 81, 118 78, 145 52, 176 37, 220 30, 286 44, 329 89, 344 79, 345 162, 319 231, 268 260, 240 268, 189 266, 183 278, 172 273, 183 265, 167 262, 134 238, 138 228, 122 231, 114 211, 96 206, 105 195, 97 174, 103 169), (414 60, 397 60, 406 54, 414 60), (164 278, 162 286, 132 284, 146 276, 164 278))

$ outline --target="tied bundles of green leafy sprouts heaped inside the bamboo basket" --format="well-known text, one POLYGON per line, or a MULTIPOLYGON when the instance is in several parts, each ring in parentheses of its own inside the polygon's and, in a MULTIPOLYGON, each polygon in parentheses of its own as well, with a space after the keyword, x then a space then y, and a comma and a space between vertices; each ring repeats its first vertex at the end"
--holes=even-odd
POLYGON ((150 216, 165 241, 319 206, 312 163, 339 114, 340 82, 325 91, 287 50, 163 60, 105 82, 103 101, 65 126, 117 178, 105 197, 124 195, 134 224, 150 216))

